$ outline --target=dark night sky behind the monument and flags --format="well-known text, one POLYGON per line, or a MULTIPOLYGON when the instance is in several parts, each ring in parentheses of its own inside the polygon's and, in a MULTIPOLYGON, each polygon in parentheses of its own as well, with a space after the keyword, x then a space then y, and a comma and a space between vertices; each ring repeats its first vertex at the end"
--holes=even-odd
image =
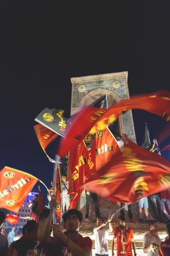
MULTIPOLYGON (((0 169, 31 173, 48 187, 53 164, 38 143, 34 118, 43 108, 63 109, 69 117, 71 77, 128 71, 130 95, 170 90, 165 3, 57 2, 0 3, 0 169)), ((166 125, 145 111, 134 110, 133 118, 138 144, 144 122, 151 140, 166 125)), ((51 157, 56 147, 57 141, 48 146, 51 157)), ((164 156, 170 160, 170 152, 164 156)))

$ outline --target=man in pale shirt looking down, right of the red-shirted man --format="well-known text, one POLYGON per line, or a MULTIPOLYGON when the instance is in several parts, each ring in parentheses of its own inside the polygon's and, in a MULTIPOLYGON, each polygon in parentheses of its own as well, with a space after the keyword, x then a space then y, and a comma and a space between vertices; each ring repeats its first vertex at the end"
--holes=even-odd
POLYGON ((149 221, 150 231, 144 235, 143 238, 143 251, 147 256, 158 256, 158 248, 161 244, 161 239, 158 236, 157 221, 149 221))

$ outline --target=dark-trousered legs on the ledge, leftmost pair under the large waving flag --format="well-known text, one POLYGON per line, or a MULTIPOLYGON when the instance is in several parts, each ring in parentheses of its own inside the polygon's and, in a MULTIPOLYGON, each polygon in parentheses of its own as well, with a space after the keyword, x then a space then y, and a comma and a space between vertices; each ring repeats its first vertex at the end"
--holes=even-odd
POLYGON ((86 204, 85 204, 85 222, 87 223, 91 223, 91 221, 88 218, 88 212, 89 212, 89 206, 90 206, 90 202, 91 199, 94 202, 94 209, 96 212, 96 217, 100 218, 100 214, 99 214, 99 204, 98 204, 98 200, 97 200, 97 194, 93 193, 87 189, 85 189, 85 198, 86 198, 86 204))

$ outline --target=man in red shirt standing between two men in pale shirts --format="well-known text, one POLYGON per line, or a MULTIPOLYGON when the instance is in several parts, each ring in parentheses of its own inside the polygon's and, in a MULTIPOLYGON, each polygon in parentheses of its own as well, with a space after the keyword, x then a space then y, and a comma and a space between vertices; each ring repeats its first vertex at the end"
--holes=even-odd
POLYGON ((134 251, 134 256, 136 256, 136 246, 133 239, 133 230, 131 227, 127 227, 125 219, 121 216, 118 218, 119 226, 113 231, 113 242, 112 242, 112 256, 114 256, 114 244, 117 240, 117 256, 133 256, 132 246, 134 251))

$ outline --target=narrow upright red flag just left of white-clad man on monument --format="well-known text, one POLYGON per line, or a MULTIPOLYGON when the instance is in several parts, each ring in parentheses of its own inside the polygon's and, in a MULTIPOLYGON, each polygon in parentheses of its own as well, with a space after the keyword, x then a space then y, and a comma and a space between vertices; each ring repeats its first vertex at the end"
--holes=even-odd
POLYGON ((59 220, 61 220, 61 215, 62 215, 62 205, 61 205, 61 193, 62 193, 62 186, 61 186, 61 175, 60 171, 57 170, 57 179, 56 179, 56 202, 57 202, 57 207, 56 207, 56 214, 59 220))

